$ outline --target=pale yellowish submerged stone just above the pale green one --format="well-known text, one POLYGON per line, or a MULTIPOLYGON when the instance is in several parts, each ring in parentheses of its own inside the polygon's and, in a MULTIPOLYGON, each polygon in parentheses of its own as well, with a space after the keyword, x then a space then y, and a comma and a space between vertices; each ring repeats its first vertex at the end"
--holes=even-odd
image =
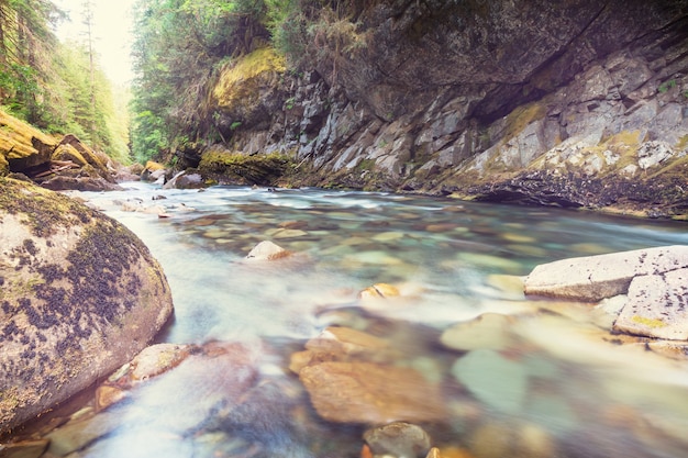
POLYGON ((447 348, 463 351, 479 348, 500 350, 511 343, 510 321, 509 316, 499 313, 484 313, 475 320, 447 328, 440 340, 447 348))

